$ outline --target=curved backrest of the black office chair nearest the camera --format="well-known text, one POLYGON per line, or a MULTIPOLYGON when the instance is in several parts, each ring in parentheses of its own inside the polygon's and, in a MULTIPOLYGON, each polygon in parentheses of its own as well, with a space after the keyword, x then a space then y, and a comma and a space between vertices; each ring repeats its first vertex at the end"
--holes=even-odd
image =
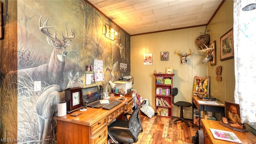
POLYGON ((128 128, 132 129, 132 132, 135 136, 138 137, 140 134, 140 118, 139 118, 139 110, 140 108, 146 103, 146 100, 144 100, 140 106, 138 106, 133 112, 132 115, 129 118, 128 121, 128 128))

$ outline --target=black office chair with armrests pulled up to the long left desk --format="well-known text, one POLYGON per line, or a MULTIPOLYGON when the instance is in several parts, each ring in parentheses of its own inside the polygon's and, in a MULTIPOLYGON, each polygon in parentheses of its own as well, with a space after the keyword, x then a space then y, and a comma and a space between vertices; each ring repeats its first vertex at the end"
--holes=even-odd
POLYGON ((114 143, 128 143, 138 141, 138 135, 143 131, 142 124, 139 117, 140 108, 146 103, 144 100, 140 106, 138 106, 133 112, 125 113, 124 118, 126 120, 116 120, 108 126, 108 136, 114 143), (127 118, 130 115, 130 118, 127 118))

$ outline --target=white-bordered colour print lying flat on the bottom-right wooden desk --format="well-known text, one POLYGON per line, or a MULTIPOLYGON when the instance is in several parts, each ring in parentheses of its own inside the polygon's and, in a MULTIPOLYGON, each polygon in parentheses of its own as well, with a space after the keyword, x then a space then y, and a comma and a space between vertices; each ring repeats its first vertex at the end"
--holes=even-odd
POLYGON ((216 130, 213 128, 210 128, 210 130, 212 132, 212 135, 216 139, 242 144, 241 140, 236 136, 236 134, 234 134, 234 132, 228 132, 228 131, 224 131, 224 130, 216 130))

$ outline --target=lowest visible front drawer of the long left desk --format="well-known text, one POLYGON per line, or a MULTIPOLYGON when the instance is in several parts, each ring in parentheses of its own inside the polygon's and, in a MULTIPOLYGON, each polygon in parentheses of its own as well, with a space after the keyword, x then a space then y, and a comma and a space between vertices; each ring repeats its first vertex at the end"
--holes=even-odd
POLYGON ((105 126, 100 132, 92 136, 91 144, 105 144, 108 138, 108 127, 105 126))

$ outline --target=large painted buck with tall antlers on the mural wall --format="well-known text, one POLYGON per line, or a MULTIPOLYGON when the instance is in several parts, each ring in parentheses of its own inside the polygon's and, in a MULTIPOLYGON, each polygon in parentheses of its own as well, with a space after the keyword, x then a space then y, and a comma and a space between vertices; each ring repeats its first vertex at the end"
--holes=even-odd
POLYGON ((42 64, 38 67, 34 68, 26 68, 18 70, 18 75, 21 78, 25 78, 32 80, 32 81, 42 81, 46 82, 49 85, 52 84, 62 84, 63 82, 63 71, 65 67, 65 57, 67 56, 68 52, 66 51, 66 46, 69 46, 71 43, 71 38, 74 38, 74 31, 70 28, 71 36, 68 36, 68 31, 66 28, 66 36, 63 36, 62 32, 62 39, 58 40, 56 38, 56 30, 54 34, 50 34, 48 32, 48 28, 53 28, 53 26, 47 26, 48 18, 44 25, 41 26, 41 18, 39 18, 39 30, 46 34, 46 40, 48 44, 53 46, 52 54, 50 56, 49 63, 42 64))

